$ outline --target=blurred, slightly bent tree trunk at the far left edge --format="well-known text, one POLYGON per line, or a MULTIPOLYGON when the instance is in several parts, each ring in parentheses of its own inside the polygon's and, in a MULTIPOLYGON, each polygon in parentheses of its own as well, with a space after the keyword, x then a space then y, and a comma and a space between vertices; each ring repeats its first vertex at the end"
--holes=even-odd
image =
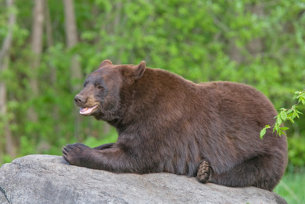
MULTIPOLYGON (((13 0, 6 0, 7 7, 13 6, 13 0)), ((3 46, 0 50, 0 73, 8 68, 9 65, 9 49, 12 44, 13 38, 13 26, 16 21, 16 16, 14 13, 9 15, 8 19, 8 33, 3 41, 3 46)), ((13 142, 13 135, 9 128, 9 120, 5 117, 7 116, 6 111, 6 84, 5 82, 0 82, 0 118, 3 121, 4 130, 0 132, 0 148, 3 150, 2 138, 5 138, 5 153, 9 154, 11 158, 16 158, 16 148, 13 142), (4 135, 3 135, 4 134, 4 135)), ((0 163, 3 163, 3 151, 0 150, 0 163)))

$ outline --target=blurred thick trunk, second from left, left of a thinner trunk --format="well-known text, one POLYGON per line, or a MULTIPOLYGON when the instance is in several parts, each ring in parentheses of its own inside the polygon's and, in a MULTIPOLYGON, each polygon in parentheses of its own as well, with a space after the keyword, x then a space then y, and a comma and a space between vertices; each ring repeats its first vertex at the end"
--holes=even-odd
MULTIPOLYGON (((32 61, 32 76, 30 76, 30 87, 33 91, 33 96, 38 96, 38 66, 40 65, 40 58, 42 53, 42 35, 43 35, 43 22, 44 22, 44 0, 35 0, 34 17, 32 25, 32 51, 34 53, 32 61)), ((29 108, 30 121, 37 122, 38 117, 33 107, 29 108)))

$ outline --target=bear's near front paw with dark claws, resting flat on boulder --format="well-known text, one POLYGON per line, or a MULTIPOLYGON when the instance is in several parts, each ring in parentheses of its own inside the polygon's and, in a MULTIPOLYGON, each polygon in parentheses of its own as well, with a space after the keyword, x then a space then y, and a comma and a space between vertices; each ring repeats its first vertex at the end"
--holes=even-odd
POLYGON ((82 161, 90 150, 90 147, 82 143, 67 144, 63 146, 63 158, 71 165, 83 166, 82 161))

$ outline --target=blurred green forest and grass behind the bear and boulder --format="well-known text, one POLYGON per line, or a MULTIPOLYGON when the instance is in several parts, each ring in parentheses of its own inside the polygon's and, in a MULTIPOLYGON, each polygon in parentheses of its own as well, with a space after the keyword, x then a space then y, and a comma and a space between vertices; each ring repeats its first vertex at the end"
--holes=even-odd
MULTIPOLYGON (((105 59, 250 84, 276 109, 305 88, 305 0, 0 0, 0 43, 0 165, 116 141, 74 105, 105 59)), ((274 191, 304 203, 305 117, 285 126, 289 166, 274 191)))

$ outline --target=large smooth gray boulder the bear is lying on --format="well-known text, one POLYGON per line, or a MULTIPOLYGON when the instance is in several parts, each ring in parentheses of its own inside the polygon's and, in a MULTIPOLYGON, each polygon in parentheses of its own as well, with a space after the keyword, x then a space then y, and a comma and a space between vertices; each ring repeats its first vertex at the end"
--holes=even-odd
POLYGON ((0 203, 286 203, 255 187, 202 184, 170 173, 114 174, 28 155, 0 169, 0 203))

